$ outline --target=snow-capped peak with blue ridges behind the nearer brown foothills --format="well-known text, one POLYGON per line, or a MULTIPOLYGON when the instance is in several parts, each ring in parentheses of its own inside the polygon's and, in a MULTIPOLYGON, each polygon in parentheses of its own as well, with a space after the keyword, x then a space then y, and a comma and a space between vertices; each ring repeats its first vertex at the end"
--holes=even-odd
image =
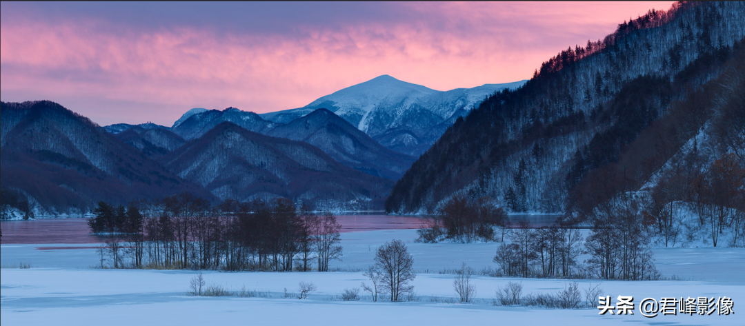
POLYGON ((342 164, 372 176, 396 180, 455 119, 487 95, 523 83, 440 92, 384 75, 314 100, 300 109, 257 115, 232 107, 222 111, 197 108, 188 110, 170 128, 148 123, 112 124, 104 129, 118 134, 148 156, 158 158, 182 142, 168 135, 171 147, 167 149, 153 139, 145 139, 153 138, 156 133, 166 137, 165 132, 129 130, 170 130, 190 141, 218 124, 230 122, 263 135, 305 141, 342 164))

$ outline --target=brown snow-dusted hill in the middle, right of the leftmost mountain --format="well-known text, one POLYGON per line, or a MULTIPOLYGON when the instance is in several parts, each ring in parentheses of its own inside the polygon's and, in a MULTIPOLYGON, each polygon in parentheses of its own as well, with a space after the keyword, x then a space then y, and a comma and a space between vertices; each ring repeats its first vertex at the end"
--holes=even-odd
POLYGON ((311 205, 360 200, 381 206, 393 182, 336 162, 309 144, 250 132, 229 122, 162 162, 221 199, 287 197, 311 205))

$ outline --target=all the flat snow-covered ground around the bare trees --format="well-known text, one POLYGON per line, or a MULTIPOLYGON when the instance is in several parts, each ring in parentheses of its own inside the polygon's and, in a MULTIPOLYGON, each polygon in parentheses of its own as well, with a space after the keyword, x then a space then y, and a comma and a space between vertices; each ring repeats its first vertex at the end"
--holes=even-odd
MULTIPOLYGON (((270 298, 194 297, 186 295, 193 271, 92 269, 95 249, 49 249, 87 245, 3 245, 0 247, 2 325, 745 325, 745 249, 655 249, 665 277, 685 281, 579 280, 580 289, 600 283, 605 295, 641 298, 720 297, 735 302, 730 316, 600 316, 597 309, 549 310, 495 307, 497 287, 522 282, 523 293, 556 293, 568 281, 475 276, 473 304, 432 300, 455 298, 453 275, 439 274, 465 261, 481 269, 491 262, 495 243, 413 243, 415 230, 361 231, 342 234, 343 272, 204 272, 206 283, 228 290, 268 292, 270 298), (375 248, 390 239, 407 243, 419 272, 413 285, 419 301, 340 301, 337 295, 359 287, 365 278, 356 270, 373 263, 375 248), (28 263, 31 269, 8 268, 28 263), (689 281, 692 280, 692 281, 689 281), (285 288, 297 292, 300 281, 317 291, 307 299, 282 298, 285 288)), ((361 293, 362 294, 362 293, 361 293)))

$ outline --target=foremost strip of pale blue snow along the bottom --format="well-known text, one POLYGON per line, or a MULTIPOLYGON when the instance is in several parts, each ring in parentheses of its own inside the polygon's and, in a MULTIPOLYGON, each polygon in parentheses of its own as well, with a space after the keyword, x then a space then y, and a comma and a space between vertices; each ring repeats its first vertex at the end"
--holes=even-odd
MULTIPOLYGON (((338 301, 344 288, 363 281, 357 272, 205 272, 207 284, 232 290, 270 291, 272 298, 204 298, 187 296, 195 272, 113 269, 1 269, 3 325, 468 325, 495 322, 504 325, 628 325, 659 322, 688 325, 742 325, 734 316, 599 316, 595 309, 547 310, 526 307, 493 307, 493 291, 515 278, 477 276, 475 304, 438 304, 430 295, 453 297, 452 275, 422 274, 413 281, 421 301, 338 301), (318 290, 307 299, 282 298, 297 291, 299 281, 312 281, 318 290)), ((586 287, 589 281, 580 281, 586 287)), ((592 282, 597 284, 597 282, 592 282)), ((662 296, 720 296, 745 300, 745 286, 694 281, 603 281, 608 295, 641 298, 662 296)), ((522 280, 524 293, 555 292, 560 280, 522 280)), ((735 304, 737 312, 738 304, 735 304)))

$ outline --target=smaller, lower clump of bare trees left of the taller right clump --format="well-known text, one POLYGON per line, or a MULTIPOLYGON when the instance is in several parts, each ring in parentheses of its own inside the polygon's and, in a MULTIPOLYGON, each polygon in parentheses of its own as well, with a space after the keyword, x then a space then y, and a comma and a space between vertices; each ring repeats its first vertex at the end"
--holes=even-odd
POLYGON ((521 221, 501 244, 493 261, 508 276, 575 277, 580 275, 577 257, 583 253, 583 237, 575 228, 530 228, 521 221))

